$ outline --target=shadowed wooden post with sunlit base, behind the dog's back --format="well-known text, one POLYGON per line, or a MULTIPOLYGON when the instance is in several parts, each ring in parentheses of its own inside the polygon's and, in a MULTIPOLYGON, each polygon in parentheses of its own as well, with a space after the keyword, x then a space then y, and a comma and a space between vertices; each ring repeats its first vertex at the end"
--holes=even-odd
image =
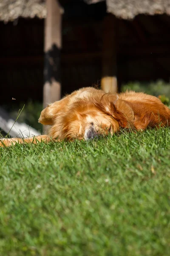
POLYGON ((102 79, 101 87, 106 93, 115 93, 117 87, 116 64, 116 17, 108 14, 103 20, 102 79))

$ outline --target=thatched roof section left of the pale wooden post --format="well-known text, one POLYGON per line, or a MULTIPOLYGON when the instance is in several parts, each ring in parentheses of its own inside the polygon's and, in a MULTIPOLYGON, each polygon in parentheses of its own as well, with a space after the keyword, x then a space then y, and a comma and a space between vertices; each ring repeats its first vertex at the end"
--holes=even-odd
POLYGON ((5 22, 18 17, 45 18, 45 0, 0 0, 0 20, 5 22))

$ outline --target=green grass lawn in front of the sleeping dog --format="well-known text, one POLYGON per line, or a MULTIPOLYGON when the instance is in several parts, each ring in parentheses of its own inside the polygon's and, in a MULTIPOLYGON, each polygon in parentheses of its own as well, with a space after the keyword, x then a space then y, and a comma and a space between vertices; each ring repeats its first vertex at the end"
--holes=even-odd
POLYGON ((170 129, 0 148, 0 256, 170 256, 170 129))

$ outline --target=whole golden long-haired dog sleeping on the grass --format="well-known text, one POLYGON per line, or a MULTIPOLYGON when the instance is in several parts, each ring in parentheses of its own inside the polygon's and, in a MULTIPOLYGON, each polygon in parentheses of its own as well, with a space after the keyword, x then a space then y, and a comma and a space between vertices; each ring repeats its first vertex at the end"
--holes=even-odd
POLYGON ((142 131, 170 125, 170 109, 158 98, 127 91, 105 93, 86 87, 49 104, 39 122, 51 125, 48 135, 26 139, 1 139, 0 146, 50 140, 91 140, 116 133, 120 128, 142 131))

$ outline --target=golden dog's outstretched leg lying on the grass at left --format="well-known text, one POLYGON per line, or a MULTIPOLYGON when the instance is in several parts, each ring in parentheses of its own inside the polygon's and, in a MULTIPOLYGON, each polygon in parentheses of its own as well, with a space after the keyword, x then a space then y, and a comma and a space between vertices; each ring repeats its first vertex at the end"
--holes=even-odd
POLYGON ((23 143, 34 143, 38 144, 39 142, 48 142, 51 140, 51 137, 48 135, 39 135, 32 138, 20 139, 20 138, 11 138, 11 139, 0 139, 0 147, 10 147, 11 145, 15 145, 15 143, 23 144, 23 143))

